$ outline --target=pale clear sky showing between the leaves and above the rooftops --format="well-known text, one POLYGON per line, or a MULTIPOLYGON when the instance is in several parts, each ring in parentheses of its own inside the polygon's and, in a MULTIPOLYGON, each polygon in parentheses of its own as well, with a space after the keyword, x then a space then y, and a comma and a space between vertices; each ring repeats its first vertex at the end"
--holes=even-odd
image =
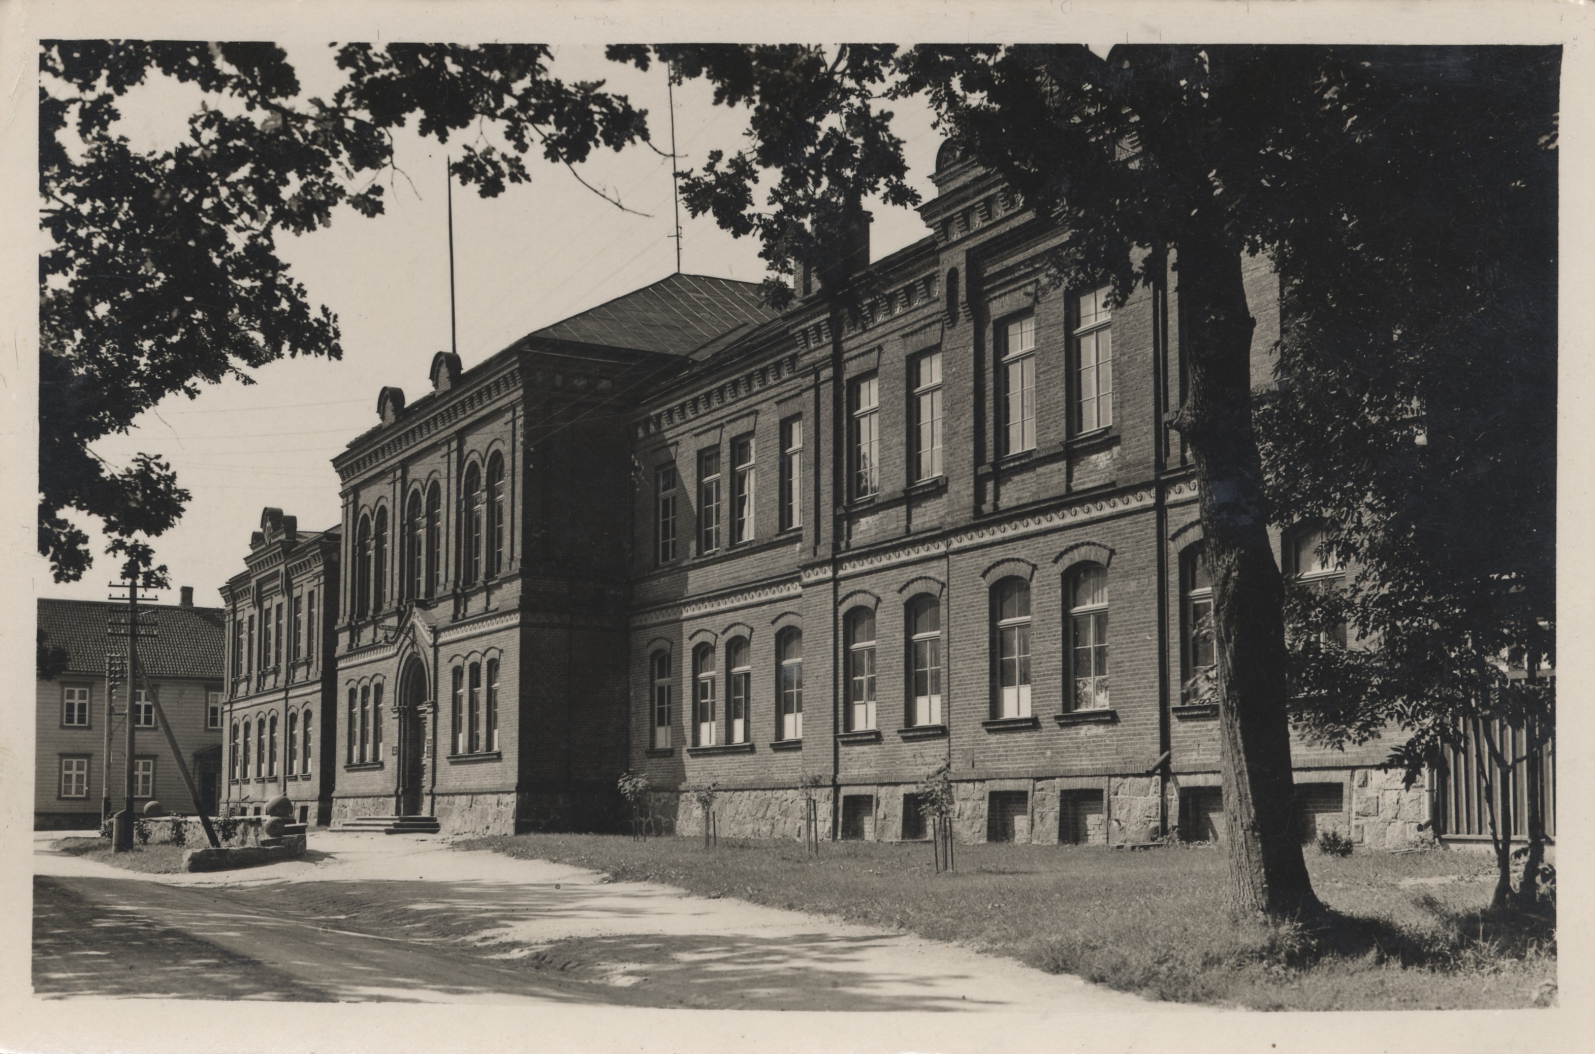
MULTIPOLYGON (((338 83, 329 46, 284 45, 300 73, 305 96, 327 96, 338 83)), ((660 150, 670 148, 665 72, 648 73, 608 62, 598 46, 557 48, 553 73, 565 80, 608 80, 649 112, 660 150)), ((123 107, 136 145, 171 142, 182 134, 198 92, 158 81, 123 107)), ((676 148, 683 167, 702 164, 713 148, 735 150, 746 110, 715 107, 707 86, 687 83, 675 92, 676 148)), ((939 137, 928 110, 892 107, 914 182, 933 195, 928 174, 939 137)), ((474 140, 471 132, 467 140, 474 140)), ((450 140, 453 145, 456 140, 450 140)), ((175 528, 153 539, 179 585, 195 587, 195 603, 220 604, 217 588, 242 569, 249 533, 260 510, 278 505, 298 517, 300 529, 338 521, 338 477, 330 459, 376 421, 376 392, 397 384, 415 399, 427 387, 434 352, 448 348, 448 241, 443 153, 416 134, 397 140, 400 174, 386 193, 388 214, 375 220, 340 209, 330 228, 279 242, 313 303, 324 303, 343 328, 343 359, 286 359, 255 372, 254 386, 228 381, 206 387, 199 399, 166 399, 139 418, 128 435, 94 443, 113 466, 139 451, 164 454, 193 493, 175 528)), ((582 167, 636 212, 620 212, 582 188, 576 179, 538 158, 528 159, 530 185, 509 187, 499 198, 455 188, 455 273, 459 356, 466 367, 482 362, 517 338, 584 311, 675 269, 670 163, 648 147, 622 153, 601 150, 582 167)), ((876 207, 872 252, 879 258, 927 231, 909 209, 876 207)), ((753 239, 732 239, 705 217, 683 210, 681 269, 743 281, 764 277, 753 239)), ((104 598, 115 574, 102 555, 97 523, 78 517, 93 539, 94 568, 81 582, 56 585, 49 566, 35 556, 41 596, 104 598)))

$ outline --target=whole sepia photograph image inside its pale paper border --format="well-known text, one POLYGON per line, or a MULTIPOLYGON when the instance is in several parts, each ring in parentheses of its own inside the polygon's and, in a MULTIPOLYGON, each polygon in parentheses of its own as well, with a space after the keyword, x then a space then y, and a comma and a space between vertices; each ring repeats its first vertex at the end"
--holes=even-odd
POLYGON ((1562 96, 41 40, 33 998, 1550 1011, 1562 96))

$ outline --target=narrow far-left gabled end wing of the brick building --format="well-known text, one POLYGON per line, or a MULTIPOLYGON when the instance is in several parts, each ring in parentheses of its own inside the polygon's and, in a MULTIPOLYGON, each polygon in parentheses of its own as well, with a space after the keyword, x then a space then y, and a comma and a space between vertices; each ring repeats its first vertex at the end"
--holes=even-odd
POLYGON ((297 517, 265 509, 246 571, 222 587, 223 805, 233 813, 260 815, 282 794, 300 823, 330 823, 340 537, 337 528, 300 533, 297 517))

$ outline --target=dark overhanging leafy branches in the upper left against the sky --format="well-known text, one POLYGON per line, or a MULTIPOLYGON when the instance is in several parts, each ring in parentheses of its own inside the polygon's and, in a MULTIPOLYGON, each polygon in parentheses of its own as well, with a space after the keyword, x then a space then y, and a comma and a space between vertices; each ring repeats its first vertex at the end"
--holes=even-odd
POLYGON ((93 561, 64 510, 128 539, 161 534, 190 499, 158 456, 113 469, 93 442, 172 392, 195 399, 228 376, 252 383, 249 370, 284 356, 341 354, 337 316, 309 303, 276 238, 327 226, 340 206, 380 215, 394 129, 415 116, 445 144, 494 129, 502 145, 464 145, 451 163, 483 196, 530 180, 533 148, 574 174, 595 147, 648 139, 646 112, 601 81, 553 78, 542 45, 354 43, 337 62, 346 80, 322 100, 300 97, 287 54, 268 43, 45 43, 38 549, 57 582, 93 561), (158 77, 203 102, 187 139, 140 151, 120 134, 118 107, 158 77))

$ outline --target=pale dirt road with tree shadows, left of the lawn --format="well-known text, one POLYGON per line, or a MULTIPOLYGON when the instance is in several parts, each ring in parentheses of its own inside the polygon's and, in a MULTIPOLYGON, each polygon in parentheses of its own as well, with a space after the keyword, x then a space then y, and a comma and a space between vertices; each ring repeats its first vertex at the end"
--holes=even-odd
POLYGON ((38 995, 716 1009, 1180 1009, 737 899, 442 839, 317 834, 300 861, 140 875, 35 851, 38 995), (113 939, 107 939, 113 938, 113 939))

